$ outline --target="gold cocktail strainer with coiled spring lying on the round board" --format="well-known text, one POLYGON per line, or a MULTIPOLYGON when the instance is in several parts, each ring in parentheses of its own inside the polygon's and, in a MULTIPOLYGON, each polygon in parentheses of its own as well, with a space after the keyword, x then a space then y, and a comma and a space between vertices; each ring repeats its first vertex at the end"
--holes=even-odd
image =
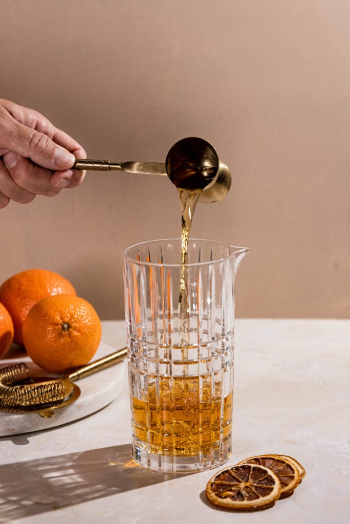
POLYGON ((54 409, 79 398, 80 388, 74 380, 117 364, 126 354, 127 347, 123 347, 60 378, 29 377, 28 366, 23 363, 0 369, 0 411, 38 412, 41 417, 52 417, 54 409))

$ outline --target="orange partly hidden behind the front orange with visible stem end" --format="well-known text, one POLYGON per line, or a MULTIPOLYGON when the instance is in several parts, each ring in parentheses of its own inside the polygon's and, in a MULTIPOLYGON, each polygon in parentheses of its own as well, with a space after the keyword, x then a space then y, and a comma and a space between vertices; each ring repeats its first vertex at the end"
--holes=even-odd
POLYGON ((8 278, 0 286, 0 302, 14 323, 14 342, 23 344, 22 329, 30 308, 50 295, 76 295, 71 283, 47 269, 28 269, 8 278))

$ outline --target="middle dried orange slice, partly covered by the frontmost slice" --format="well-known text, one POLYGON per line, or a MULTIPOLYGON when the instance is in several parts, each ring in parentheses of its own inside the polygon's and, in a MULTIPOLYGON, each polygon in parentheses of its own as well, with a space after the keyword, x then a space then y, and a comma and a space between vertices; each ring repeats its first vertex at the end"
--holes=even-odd
POLYGON ((300 474, 298 468, 292 461, 282 455, 257 455, 249 457, 238 464, 259 464, 269 468, 277 475, 281 483, 280 498, 289 497, 294 488, 300 483, 300 474))

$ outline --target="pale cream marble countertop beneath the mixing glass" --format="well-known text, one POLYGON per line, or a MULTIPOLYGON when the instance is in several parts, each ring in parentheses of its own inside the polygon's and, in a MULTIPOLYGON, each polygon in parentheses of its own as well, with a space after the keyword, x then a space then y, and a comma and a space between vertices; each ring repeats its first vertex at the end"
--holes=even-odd
MULTIPOLYGON (((124 346, 124 322, 103 322, 103 341, 124 346)), ((349 320, 237 319, 227 464, 280 453, 307 471, 294 494, 268 510, 210 506, 204 489, 215 470, 162 475, 134 466, 125 375, 120 396, 100 411, 0 438, 0 523, 348 522, 349 357, 349 320)))

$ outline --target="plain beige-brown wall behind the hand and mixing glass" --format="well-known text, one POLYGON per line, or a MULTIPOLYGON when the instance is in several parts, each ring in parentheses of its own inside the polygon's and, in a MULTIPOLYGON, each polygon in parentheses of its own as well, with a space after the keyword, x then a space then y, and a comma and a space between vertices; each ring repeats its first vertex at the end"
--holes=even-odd
MULTIPOLYGON (((233 172, 193 236, 249 246, 237 315, 350 313, 348 0, 0 0, 0 95, 92 158, 164 161, 200 136, 233 172)), ((123 318, 122 250, 178 236, 167 178, 87 173, 0 210, 0 281, 43 267, 123 318)))

